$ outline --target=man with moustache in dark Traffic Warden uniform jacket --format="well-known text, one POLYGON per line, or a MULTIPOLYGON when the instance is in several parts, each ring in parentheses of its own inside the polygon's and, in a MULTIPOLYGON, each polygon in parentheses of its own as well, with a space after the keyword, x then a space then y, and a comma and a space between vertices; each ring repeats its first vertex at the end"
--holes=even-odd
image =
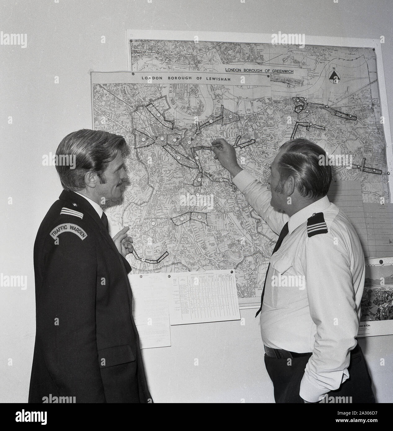
POLYGON ((75 157, 75 165, 56 164, 64 191, 34 244, 37 323, 29 403, 50 397, 153 402, 124 257, 132 239, 124 228, 112 240, 100 207, 121 198, 125 148, 122 136, 83 129, 56 151, 59 161, 75 157))

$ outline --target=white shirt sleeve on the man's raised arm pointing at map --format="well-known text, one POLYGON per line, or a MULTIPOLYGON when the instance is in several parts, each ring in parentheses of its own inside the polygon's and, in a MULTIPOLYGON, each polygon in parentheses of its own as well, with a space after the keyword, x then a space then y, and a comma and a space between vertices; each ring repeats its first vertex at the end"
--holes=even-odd
POLYGON ((268 190, 268 186, 262 184, 244 169, 234 176, 232 182, 244 194, 247 202, 265 220, 271 230, 279 235, 281 229, 289 220, 289 215, 274 209, 270 205, 271 192, 268 190))

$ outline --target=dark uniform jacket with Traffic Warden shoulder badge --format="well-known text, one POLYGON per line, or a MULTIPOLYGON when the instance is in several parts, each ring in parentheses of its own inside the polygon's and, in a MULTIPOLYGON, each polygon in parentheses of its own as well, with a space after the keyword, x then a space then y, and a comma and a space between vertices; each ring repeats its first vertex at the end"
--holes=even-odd
POLYGON ((130 271, 93 206, 63 191, 34 244, 29 403, 50 395, 76 403, 152 402, 132 317, 130 271))

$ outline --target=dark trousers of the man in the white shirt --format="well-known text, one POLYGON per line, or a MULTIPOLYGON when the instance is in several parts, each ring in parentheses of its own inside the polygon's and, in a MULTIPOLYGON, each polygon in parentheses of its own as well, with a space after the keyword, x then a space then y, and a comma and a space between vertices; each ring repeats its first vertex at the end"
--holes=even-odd
MULTIPOLYGON (((299 396, 300 381, 303 378, 304 369, 311 355, 312 353, 309 353, 289 360, 286 358, 270 358, 265 354, 266 370, 273 382, 276 403, 304 402, 299 396)), ((348 403, 375 403, 375 397, 371 389, 371 377, 359 344, 350 353, 348 372, 349 379, 344 381, 337 390, 330 391, 327 395, 329 398, 326 398, 325 402, 337 403, 340 401, 336 397, 348 397, 345 399, 348 403), (332 399, 329 401, 330 397, 334 397, 334 401, 332 399)))

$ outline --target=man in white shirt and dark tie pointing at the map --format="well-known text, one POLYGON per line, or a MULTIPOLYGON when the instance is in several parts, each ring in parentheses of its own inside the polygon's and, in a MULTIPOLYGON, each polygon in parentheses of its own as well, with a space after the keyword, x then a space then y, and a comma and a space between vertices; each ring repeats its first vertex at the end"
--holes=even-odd
POLYGON ((375 403, 356 341, 364 254, 349 219, 326 196, 331 166, 319 164, 324 150, 304 138, 283 144, 271 165, 269 190, 237 164, 234 147, 224 139, 211 149, 280 234, 259 310, 276 402, 375 403))

